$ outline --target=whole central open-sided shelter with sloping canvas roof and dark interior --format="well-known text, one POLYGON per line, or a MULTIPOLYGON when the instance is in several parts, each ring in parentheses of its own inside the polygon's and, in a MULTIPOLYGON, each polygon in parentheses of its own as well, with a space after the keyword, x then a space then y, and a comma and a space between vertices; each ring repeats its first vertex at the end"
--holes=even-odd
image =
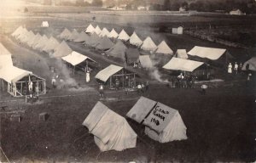
POLYGON ((136 73, 125 70, 118 65, 109 65, 99 71, 95 78, 99 82, 105 83, 110 89, 115 88, 117 80, 120 88, 136 87, 136 73))

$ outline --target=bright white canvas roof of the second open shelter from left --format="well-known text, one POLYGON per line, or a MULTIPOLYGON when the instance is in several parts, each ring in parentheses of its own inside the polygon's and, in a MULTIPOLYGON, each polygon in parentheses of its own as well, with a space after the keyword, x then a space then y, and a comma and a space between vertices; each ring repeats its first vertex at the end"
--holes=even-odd
MULTIPOLYGON (((84 60, 90 59, 90 58, 83 55, 82 53, 73 51, 72 53, 68 54, 65 57, 62 57, 61 59, 65 60, 69 64, 75 66, 75 65, 79 65, 80 63, 84 62, 84 60)), ((90 60, 94 61, 93 59, 90 59, 90 60)))

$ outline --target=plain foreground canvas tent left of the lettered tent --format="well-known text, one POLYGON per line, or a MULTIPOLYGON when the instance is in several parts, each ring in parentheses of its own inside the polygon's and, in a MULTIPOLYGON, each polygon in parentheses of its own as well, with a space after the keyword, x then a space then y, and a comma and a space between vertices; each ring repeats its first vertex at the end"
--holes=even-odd
POLYGON ((83 122, 101 151, 122 151, 136 147, 137 134, 124 117, 97 102, 83 122))

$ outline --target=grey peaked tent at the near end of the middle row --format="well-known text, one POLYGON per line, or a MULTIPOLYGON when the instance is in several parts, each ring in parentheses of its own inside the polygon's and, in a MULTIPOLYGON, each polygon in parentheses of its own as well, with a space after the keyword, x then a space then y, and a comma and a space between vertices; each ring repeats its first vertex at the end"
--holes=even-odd
POLYGON ((108 55, 110 55, 112 57, 119 58, 119 59, 122 59, 123 61, 125 61, 125 50, 126 49, 127 49, 127 47, 125 46, 125 44, 121 41, 118 41, 106 53, 108 53, 108 55))

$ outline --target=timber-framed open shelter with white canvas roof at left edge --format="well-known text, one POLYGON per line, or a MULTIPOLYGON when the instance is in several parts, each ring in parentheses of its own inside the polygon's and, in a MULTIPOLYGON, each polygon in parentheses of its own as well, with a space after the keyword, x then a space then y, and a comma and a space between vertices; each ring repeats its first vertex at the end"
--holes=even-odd
POLYGON ((4 66, 0 69, 0 78, 7 82, 7 91, 14 97, 28 94, 28 82, 32 82, 34 93, 46 93, 45 80, 32 74, 31 71, 22 70, 15 66, 4 66))

